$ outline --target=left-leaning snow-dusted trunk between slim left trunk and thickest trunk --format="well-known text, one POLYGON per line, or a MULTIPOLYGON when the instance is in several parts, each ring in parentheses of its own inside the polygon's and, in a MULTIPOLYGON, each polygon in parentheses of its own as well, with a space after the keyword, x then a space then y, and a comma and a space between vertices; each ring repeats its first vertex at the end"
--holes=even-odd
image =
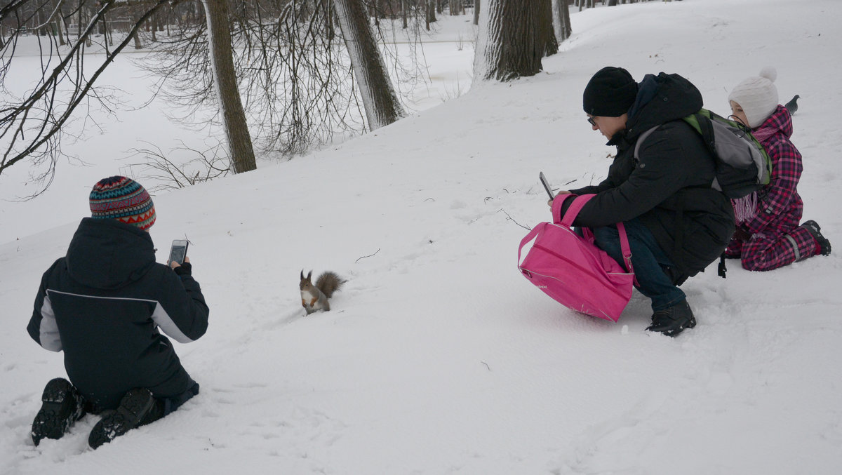
POLYGON ((369 130, 389 125, 403 116, 392 81, 371 35, 365 8, 360 0, 335 0, 339 28, 351 58, 360 88, 369 130))

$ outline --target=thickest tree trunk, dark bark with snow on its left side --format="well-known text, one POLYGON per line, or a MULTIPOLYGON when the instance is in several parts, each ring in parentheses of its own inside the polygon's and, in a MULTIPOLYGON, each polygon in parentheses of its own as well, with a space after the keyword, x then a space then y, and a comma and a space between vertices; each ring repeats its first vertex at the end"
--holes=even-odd
POLYGON ((482 51, 475 53, 482 55, 478 58, 482 63, 475 61, 474 67, 475 71, 482 72, 479 77, 509 81, 534 76, 541 71, 546 38, 539 33, 540 19, 548 6, 541 0, 488 1, 486 44, 482 51))

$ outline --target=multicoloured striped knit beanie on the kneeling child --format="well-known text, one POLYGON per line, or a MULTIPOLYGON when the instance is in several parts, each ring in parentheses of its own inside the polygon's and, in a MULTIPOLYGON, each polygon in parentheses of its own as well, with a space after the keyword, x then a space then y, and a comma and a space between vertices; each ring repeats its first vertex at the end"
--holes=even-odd
POLYGON ((152 198, 133 179, 120 176, 101 179, 93 185, 89 200, 94 219, 115 219, 144 230, 155 223, 152 198))

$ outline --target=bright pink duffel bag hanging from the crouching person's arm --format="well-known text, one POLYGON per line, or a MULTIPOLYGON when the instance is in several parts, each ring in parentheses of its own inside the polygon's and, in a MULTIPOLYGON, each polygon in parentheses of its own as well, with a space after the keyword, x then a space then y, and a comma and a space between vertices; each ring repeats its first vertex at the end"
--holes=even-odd
POLYGON ((616 322, 632 298, 632 251, 626 227, 617 223, 623 259, 628 271, 594 244, 594 234, 582 228, 583 237, 570 228, 582 206, 594 195, 573 200, 561 224, 542 222, 520 241, 518 268, 546 295, 563 306, 616 322), (523 262, 520 252, 535 239, 523 262))

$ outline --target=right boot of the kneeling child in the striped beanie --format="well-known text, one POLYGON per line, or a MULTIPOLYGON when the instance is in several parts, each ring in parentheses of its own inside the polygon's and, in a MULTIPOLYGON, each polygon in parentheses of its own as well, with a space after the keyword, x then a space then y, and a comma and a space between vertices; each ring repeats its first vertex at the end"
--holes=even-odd
POLYGON ((154 419, 151 416, 155 408, 155 398, 147 388, 130 389, 120 399, 117 410, 103 412, 103 418, 93 426, 91 435, 88 435, 88 446, 96 449, 129 430, 152 422, 154 419))

